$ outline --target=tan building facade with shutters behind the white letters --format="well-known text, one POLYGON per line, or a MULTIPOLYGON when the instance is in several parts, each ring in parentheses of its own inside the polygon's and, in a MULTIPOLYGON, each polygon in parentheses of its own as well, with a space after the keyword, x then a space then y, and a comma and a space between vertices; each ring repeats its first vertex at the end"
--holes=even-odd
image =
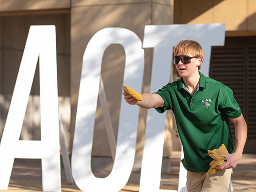
MULTIPOLYGON (((249 128, 245 152, 256 152, 251 147, 256 144, 255 0, 0 0, 0 3, 0 137, 31 25, 56 26, 59 105, 67 148, 71 152, 82 57, 96 32, 105 27, 124 27, 135 32, 142 41, 145 25, 226 23, 225 46, 212 48, 210 76, 234 90, 249 128)), ((147 93, 152 57, 153 49, 146 48, 143 87, 147 93)), ((102 60, 101 76, 115 137, 124 61, 120 45, 109 46, 102 60)), ((37 67, 20 139, 40 140, 39 93, 37 67)), ((143 153, 146 113, 144 110, 140 113, 138 157, 143 153)), ((106 143, 106 127, 98 104, 92 155, 110 157, 106 143)), ((173 115, 168 112, 163 156, 168 157, 172 150, 179 149, 173 115)))

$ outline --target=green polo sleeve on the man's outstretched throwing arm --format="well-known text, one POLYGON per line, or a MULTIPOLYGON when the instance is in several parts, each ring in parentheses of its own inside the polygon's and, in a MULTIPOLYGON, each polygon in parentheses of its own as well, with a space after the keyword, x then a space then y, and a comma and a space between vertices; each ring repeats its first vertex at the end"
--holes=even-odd
POLYGON ((159 89, 156 94, 160 95, 164 101, 165 106, 155 108, 158 113, 164 113, 166 110, 172 109, 171 101, 171 84, 168 83, 166 86, 163 86, 162 89, 159 89))

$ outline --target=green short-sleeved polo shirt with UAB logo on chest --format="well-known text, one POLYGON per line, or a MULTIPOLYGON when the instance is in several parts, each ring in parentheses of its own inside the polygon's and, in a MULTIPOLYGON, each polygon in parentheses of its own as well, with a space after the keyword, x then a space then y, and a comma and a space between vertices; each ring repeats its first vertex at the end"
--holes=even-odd
POLYGON ((242 114, 229 87, 199 73, 199 87, 193 95, 186 90, 182 78, 156 92, 165 103, 156 111, 164 113, 172 109, 175 114, 184 150, 182 163, 190 172, 209 170, 213 159, 207 150, 224 144, 229 153, 235 151, 228 118, 242 114))

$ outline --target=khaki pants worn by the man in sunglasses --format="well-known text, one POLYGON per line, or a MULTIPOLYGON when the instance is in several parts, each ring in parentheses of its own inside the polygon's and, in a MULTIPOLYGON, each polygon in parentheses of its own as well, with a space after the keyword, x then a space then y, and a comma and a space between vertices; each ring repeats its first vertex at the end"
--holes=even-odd
POLYGON ((188 192, 228 192, 232 169, 208 175, 207 172, 189 172, 188 192))

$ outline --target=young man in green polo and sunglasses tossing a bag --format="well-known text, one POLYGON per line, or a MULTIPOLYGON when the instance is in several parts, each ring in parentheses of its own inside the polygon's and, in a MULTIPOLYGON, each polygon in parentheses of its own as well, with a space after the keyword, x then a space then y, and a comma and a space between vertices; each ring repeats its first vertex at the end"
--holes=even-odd
POLYGON ((156 93, 143 93, 142 101, 126 92, 123 95, 130 105, 155 108, 159 113, 173 110, 184 150, 182 163, 188 170, 189 192, 228 192, 232 168, 242 158, 247 125, 229 87, 199 72, 202 61, 202 47, 196 41, 182 40, 174 47, 174 64, 181 79, 156 93), (236 128, 236 146, 229 119, 236 128), (209 175, 213 159, 208 150, 222 144, 229 152, 222 155, 227 162, 219 168, 222 172, 209 175))

